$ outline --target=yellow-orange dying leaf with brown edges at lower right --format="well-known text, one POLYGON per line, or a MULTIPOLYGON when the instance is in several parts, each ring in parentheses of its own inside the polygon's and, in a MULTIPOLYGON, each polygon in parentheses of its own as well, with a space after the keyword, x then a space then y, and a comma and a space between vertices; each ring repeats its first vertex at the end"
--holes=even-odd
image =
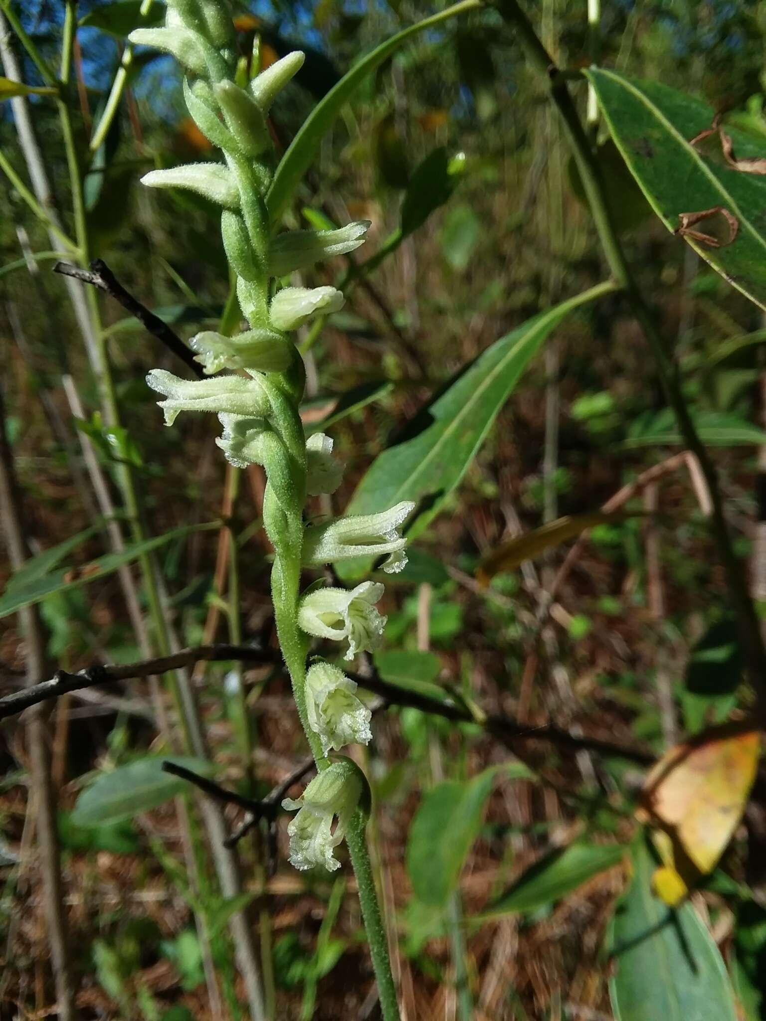
POLYGON ((671 748, 649 773, 636 818, 653 828, 664 863, 654 884, 666 904, 678 904, 726 849, 753 786, 760 745, 752 724, 728 723, 671 748))

